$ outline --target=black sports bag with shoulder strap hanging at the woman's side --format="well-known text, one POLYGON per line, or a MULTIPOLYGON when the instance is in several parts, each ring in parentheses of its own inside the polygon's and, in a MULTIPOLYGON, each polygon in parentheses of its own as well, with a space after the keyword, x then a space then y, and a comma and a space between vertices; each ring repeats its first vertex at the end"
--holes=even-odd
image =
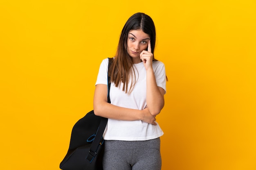
MULTIPOLYGON (((108 68, 112 63, 109 58, 108 68)), ((110 77, 108 75, 108 102, 110 77)), ((108 122, 107 118, 96 116, 90 111, 74 125, 70 137, 70 146, 66 156, 60 163, 62 170, 102 170, 103 133, 108 122)))

